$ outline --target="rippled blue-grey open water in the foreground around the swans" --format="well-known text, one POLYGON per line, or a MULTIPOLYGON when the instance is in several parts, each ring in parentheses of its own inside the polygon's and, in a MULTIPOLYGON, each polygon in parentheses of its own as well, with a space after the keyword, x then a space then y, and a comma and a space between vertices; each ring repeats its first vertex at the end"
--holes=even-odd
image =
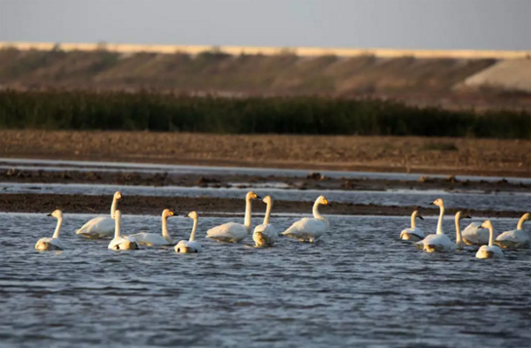
MULTIPOLYGON (((273 216, 278 229, 296 218, 273 216)), ((0 213, 0 345, 47 347, 452 346, 522 347, 531 340, 531 251, 480 260, 473 251, 425 254, 397 239, 408 217, 342 216, 317 244, 216 244, 204 231, 229 218, 201 218, 204 252, 115 252, 73 230, 63 252, 38 252, 55 220, 0 213), (23 344, 22 344, 23 343, 23 344)), ((258 222, 258 220, 255 220, 258 222)), ((435 228, 435 219, 420 221, 435 228)), ((172 218, 188 238, 191 220, 172 218)), ((453 238, 449 217, 444 228, 453 238)), ((497 231, 515 219, 496 219, 497 231)), ((159 231, 156 216, 123 229, 159 231)), ((529 226, 527 226, 527 229, 529 226)))

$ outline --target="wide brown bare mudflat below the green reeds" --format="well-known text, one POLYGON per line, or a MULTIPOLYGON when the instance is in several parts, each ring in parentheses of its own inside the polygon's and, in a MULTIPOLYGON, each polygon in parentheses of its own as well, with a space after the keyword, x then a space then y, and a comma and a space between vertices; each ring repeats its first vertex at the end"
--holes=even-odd
POLYGON ((531 141, 0 130, 0 157, 531 177, 531 141))

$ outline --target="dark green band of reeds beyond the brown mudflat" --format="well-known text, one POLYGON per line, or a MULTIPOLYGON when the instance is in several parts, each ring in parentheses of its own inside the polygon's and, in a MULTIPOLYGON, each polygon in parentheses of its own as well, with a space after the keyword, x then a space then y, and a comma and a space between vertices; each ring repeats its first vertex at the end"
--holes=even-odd
POLYGON ((531 114, 448 111, 372 99, 2 90, 0 128, 531 139, 531 114))

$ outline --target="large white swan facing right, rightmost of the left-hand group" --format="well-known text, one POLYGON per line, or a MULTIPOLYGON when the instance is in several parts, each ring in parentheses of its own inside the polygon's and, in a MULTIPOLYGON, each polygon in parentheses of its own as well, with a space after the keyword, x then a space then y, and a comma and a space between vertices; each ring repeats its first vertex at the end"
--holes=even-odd
POLYGON ((313 243, 325 232, 327 232, 329 222, 319 213, 319 205, 329 205, 327 198, 319 196, 313 204, 313 218, 304 218, 293 223, 288 229, 282 232, 283 236, 298 239, 301 242, 313 243))

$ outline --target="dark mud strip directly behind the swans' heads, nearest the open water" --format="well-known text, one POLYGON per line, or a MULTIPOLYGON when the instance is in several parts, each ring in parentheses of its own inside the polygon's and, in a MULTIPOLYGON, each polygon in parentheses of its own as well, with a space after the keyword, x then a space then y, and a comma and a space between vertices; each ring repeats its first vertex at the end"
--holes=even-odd
MULTIPOLYGON (((50 213, 61 209, 64 213, 110 213, 111 197, 108 196, 73 196, 73 195, 0 195, 0 211, 10 213, 50 213)), ((350 203, 331 202, 332 206, 323 206, 323 214, 342 215, 411 215, 414 206, 383 206, 383 205, 354 205, 350 203)), ((255 213, 265 213, 266 205, 255 201, 255 213)), ((245 203, 242 199, 207 198, 207 197, 144 197, 126 196, 119 202, 119 209, 123 213, 157 215, 164 208, 170 208, 175 213, 186 214, 196 210, 202 215, 216 213, 234 213, 242 215, 245 203)), ((522 212, 496 212, 462 210, 473 217, 511 217, 518 218, 522 212)), ((310 215, 312 202, 275 201, 275 212, 304 213, 310 215)), ((437 215, 438 209, 420 209, 423 215, 437 215)), ((447 209, 448 214, 456 213, 455 209, 447 209)))

